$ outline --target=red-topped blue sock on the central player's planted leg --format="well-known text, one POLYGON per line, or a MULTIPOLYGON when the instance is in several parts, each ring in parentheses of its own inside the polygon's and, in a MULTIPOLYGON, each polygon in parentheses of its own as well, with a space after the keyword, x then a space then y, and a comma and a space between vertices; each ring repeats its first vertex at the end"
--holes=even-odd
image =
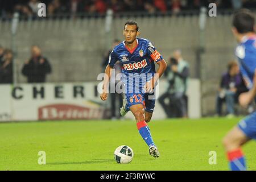
POLYGON ((139 130, 139 134, 141 134, 141 137, 147 143, 148 147, 155 146, 147 123, 145 121, 138 122, 137 128, 139 130))

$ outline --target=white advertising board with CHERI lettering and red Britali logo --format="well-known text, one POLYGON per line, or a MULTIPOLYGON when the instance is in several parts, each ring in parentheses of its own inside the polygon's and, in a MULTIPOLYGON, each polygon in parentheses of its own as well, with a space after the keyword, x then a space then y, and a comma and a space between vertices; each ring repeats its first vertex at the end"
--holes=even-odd
POLYGON ((106 117, 95 83, 0 85, 0 121, 106 117))

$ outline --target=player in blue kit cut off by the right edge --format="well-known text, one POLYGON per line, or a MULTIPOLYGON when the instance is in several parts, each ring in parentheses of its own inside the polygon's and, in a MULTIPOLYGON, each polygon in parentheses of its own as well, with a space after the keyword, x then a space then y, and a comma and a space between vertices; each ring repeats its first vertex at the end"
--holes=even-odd
MULTIPOLYGON (((239 45, 236 56, 240 62, 241 73, 249 92, 242 93, 239 97, 240 104, 246 107, 255 100, 256 96, 256 35, 255 19, 249 10, 240 10, 234 14, 233 34, 239 45)), ((256 139, 256 111, 242 119, 223 140, 228 155, 230 169, 233 171, 246 170, 245 155, 241 147, 251 139, 256 139)))

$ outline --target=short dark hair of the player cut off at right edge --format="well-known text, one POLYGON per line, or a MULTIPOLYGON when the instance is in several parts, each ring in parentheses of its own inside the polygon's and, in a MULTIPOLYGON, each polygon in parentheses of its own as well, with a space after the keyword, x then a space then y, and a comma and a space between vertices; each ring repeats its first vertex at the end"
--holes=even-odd
POLYGON ((254 32, 255 18, 250 10, 238 10, 233 16, 233 26, 237 28, 238 33, 245 34, 254 32))

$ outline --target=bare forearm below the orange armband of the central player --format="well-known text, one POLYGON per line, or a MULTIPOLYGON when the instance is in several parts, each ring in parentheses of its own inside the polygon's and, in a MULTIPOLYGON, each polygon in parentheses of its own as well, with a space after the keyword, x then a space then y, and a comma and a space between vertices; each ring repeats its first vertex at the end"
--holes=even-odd
POLYGON ((148 81, 146 83, 146 85, 144 85, 144 90, 148 93, 148 92, 152 92, 152 89, 154 89, 154 86, 156 84, 156 82, 159 80, 159 78, 163 75, 164 71, 166 71, 167 68, 167 63, 164 59, 160 60, 157 62, 158 64, 158 71, 156 71, 156 74, 154 77, 152 77, 152 79, 150 81, 148 81))

